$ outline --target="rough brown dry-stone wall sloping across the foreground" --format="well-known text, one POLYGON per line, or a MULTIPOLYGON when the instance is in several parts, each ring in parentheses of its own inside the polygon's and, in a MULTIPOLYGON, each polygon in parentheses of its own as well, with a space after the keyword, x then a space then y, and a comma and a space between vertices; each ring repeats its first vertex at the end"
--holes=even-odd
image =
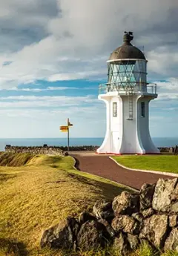
MULTIPOLYGON (((60 217, 60 216, 59 216, 60 217)), ((144 184, 138 193, 123 191, 109 202, 99 200, 93 212, 67 217, 42 235, 41 246, 92 249, 111 246, 128 255, 140 243, 178 252, 178 179, 144 184)))

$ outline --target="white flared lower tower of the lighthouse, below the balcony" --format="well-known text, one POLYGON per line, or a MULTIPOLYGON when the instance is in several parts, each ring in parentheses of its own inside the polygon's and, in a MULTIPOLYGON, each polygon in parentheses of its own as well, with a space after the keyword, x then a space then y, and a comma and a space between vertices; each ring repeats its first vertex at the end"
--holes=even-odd
MULTIPOLYGON (((115 94, 115 95, 114 95, 115 94)), ((129 117, 128 96, 99 95, 106 103, 107 126, 105 140, 97 150, 99 154, 145 154, 159 153, 149 132, 149 101, 154 96, 133 96, 133 119, 129 117), (113 102, 117 102, 117 116, 113 117, 113 102), (141 102, 145 102, 145 117, 141 116, 141 102)))

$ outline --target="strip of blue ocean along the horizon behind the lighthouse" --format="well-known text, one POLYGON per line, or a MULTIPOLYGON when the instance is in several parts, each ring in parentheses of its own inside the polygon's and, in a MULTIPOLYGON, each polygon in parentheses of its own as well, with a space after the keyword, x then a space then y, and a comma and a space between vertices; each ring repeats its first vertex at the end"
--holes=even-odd
MULTIPOLYGON (((70 138, 70 145, 102 145, 104 138, 70 138)), ((174 147, 178 145, 178 137, 152 138, 156 147, 174 147)), ((0 139, 0 151, 4 151, 5 145, 17 146, 42 146, 47 145, 67 145, 65 138, 35 138, 35 139, 0 139)))

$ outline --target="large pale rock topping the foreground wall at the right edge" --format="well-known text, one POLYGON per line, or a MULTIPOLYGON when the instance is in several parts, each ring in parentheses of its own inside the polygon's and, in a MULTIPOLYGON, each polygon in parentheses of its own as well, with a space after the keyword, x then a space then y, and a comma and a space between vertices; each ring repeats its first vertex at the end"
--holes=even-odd
POLYGON ((159 179, 153 197, 153 209, 156 211, 178 213, 178 179, 159 179))

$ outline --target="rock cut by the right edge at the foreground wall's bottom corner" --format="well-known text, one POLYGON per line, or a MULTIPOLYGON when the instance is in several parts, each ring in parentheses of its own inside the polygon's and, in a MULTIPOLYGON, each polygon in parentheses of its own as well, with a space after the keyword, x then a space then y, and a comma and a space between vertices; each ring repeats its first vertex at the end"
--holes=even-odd
POLYGON ((165 240, 165 251, 172 250, 178 252, 178 228, 171 231, 168 238, 165 240))

